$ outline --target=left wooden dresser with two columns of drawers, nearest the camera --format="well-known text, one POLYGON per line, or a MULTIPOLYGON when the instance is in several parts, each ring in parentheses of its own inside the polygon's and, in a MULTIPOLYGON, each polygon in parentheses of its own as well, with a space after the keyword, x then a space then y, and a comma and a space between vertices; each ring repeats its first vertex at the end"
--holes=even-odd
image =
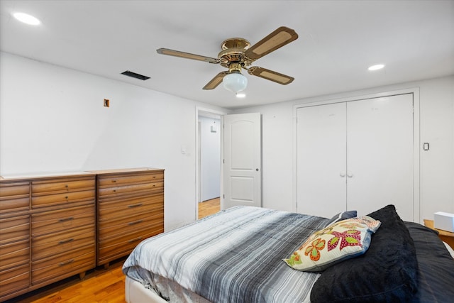
POLYGON ((0 301, 95 266, 95 176, 0 180, 0 301))

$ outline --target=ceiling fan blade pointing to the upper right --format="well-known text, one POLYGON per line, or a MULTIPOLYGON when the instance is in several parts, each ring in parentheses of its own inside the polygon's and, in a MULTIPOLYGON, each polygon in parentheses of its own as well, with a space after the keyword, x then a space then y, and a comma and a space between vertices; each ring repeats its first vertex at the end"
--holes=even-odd
POLYGON ((297 38, 298 34, 292 28, 281 26, 246 50, 245 57, 250 60, 257 60, 278 48, 282 48, 282 46, 291 43, 293 40, 297 40, 297 38))

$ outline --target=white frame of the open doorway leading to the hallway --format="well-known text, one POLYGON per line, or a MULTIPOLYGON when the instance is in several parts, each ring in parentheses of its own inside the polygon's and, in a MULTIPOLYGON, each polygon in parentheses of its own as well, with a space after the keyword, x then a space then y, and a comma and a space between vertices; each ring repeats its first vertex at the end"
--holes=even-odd
MULTIPOLYGON (((200 106, 196 106, 196 111, 195 111, 195 138, 196 138, 196 143, 195 143, 195 146, 196 146, 196 166, 195 166, 195 177, 196 177, 196 188, 195 188, 195 221, 197 221, 199 219, 199 197, 201 197, 201 192, 200 192, 200 188, 201 188, 201 177, 200 177, 200 159, 199 159, 199 153, 200 153, 200 133, 199 133, 199 116, 204 116, 204 117, 213 117, 213 116, 219 116, 220 120, 221 120, 221 126, 223 126, 223 122, 224 122, 224 115, 228 114, 227 111, 218 111, 216 109, 208 109, 208 108, 204 108, 204 107, 200 107, 200 106)), ((221 132, 220 133, 220 136, 221 136, 221 146, 220 146, 220 149, 221 149, 221 153, 219 155, 219 157, 221 158, 221 164, 222 164, 222 159, 223 159, 223 150, 224 150, 224 145, 223 145, 223 141, 224 141, 224 131, 223 131, 223 127, 219 127, 219 131, 221 132)), ((219 172, 221 174, 220 176, 220 180, 219 182, 221 182, 221 184, 219 184, 220 186, 220 193, 221 193, 221 206, 223 205, 223 196, 222 196, 222 193, 223 193, 223 165, 221 165, 221 170, 219 172)))

